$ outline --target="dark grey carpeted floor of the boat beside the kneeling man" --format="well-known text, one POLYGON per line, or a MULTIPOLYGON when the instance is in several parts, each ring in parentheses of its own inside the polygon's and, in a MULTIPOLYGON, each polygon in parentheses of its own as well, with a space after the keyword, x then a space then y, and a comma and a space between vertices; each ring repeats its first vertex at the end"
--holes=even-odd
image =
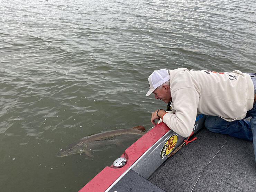
POLYGON ((148 180, 164 191, 255 192, 253 142, 207 129, 196 137, 168 158, 148 180))

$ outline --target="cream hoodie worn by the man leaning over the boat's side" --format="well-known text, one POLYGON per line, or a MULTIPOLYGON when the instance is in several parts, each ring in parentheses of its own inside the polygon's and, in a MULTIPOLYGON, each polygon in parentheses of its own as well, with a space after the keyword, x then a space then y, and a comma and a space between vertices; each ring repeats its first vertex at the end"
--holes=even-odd
POLYGON ((197 113, 234 121, 243 119, 253 108, 252 79, 238 70, 170 70, 170 88, 172 111, 164 115, 163 121, 183 137, 192 133, 197 113))

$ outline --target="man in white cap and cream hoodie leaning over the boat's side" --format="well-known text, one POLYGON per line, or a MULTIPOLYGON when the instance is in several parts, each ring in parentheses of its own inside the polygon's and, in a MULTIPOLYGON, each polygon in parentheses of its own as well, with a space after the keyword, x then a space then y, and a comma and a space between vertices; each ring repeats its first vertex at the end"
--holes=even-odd
POLYGON ((188 137, 196 114, 203 113, 209 115, 204 123, 208 130, 254 141, 256 159, 256 74, 161 69, 148 77, 148 83, 146 96, 153 93, 171 110, 152 113, 153 125, 161 118, 177 134, 188 137), (252 117, 250 122, 243 120, 247 117, 252 117))

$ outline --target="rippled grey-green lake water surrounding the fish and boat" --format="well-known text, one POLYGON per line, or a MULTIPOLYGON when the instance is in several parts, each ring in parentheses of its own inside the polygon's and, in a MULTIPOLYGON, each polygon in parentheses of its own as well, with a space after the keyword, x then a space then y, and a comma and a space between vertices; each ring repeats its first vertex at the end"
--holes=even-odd
MULTIPOLYGON (((0 2, 1 191, 78 191, 125 150, 55 157, 106 130, 143 125, 160 68, 256 72, 256 3, 0 2)), ((126 143, 129 146, 129 143, 126 143)))

